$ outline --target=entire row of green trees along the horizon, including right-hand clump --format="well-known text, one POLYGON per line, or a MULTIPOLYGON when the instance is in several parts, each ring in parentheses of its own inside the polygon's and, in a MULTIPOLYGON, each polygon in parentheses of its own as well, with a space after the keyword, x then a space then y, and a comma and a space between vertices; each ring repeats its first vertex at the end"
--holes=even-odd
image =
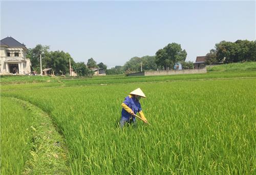
MULTIPOLYGON (((42 56, 42 69, 52 68, 56 75, 69 74, 69 60, 72 69, 79 76, 93 75, 92 68, 105 70, 107 75, 124 74, 131 72, 149 70, 168 70, 173 69, 175 63, 180 62, 182 69, 194 69, 192 61, 186 61, 187 52, 178 43, 169 43, 159 49, 154 56, 132 57, 123 66, 116 65, 114 68, 107 69, 107 66, 90 58, 87 63, 75 62, 69 53, 63 51, 49 51, 49 46, 37 45, 35 48, 28 49, 27 57, 30 58, 32 70, 40 72, 39 54, 42 56)), ((211 49, 206 54, 206 64, 231 63, 256 61, 256 40, 237 40, 236 42, 221 41, 216 43, 215 49, 211 49)))

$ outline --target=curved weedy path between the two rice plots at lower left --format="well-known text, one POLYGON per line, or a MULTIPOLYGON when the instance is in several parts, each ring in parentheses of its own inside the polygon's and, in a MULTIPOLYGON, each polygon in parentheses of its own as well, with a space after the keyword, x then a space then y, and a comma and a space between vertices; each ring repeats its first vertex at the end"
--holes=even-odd
POLYGON ((16 101, 33 115, 32 125, 28 128, 32 130, 32 147, 24 174, 68 174, 68 149, 50 116, 27 101, 7 98, 16 101))

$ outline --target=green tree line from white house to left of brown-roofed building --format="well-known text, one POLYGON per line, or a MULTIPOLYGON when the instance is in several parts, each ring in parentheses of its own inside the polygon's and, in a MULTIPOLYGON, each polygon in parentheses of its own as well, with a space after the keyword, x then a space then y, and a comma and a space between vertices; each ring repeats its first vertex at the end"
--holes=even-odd
MULTIPOLYGON (((181 50, 180 45, 172 43, 160 49, 156 56, 133 57, 127 61, 123 66, 116 65, 114 68, 107 69, 107 66, 90 58, 87 63, 75 62, 69 53, 63 51, 49 51, 49 46, 36 45, 35 48, 28 49, 27 57, 30 58, 32 64, 32 71, 40 72, 40 54, 42 57, 42 69, 52 68, 55 75, 69 74, 69 60, 71 61, 72 69, 79 76, 93 75, 91 69, 100 68, 105 70, 106 74, 124 74, 131 72, 139 72, 142 70, 157 70, 167 69, 171 67, 176 61, 183 61, 185 63, 186 52, 181 50), (163 55, 161 55, 163 54, 163 55), (171 55, 169 55, 171 54, 171 55), (174 58, 174 59, 173 59, 174 58), (168 67, 167 67, 168 66, 168 67)), ((193 68, 193 62, 187 63, 187 69, 193 68)))

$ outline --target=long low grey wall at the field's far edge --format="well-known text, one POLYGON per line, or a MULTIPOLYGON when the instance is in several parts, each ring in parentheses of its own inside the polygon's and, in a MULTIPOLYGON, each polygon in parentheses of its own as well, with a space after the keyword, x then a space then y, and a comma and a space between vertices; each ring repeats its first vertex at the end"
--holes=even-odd
POLYGON ((203 74, 206 69, 184 69, 184 70, 167 70, 167 71, 148 71, 145 76, 151 75, 175 75, 175 74, 203 74))

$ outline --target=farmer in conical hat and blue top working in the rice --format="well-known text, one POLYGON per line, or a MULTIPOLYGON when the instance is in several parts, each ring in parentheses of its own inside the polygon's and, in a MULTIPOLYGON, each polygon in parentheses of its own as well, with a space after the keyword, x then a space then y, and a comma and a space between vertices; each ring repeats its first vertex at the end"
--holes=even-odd
POLYGON ((141 91, 140 88, 134 90, 129 94, 129 96, 125 97, 123 103, 122 103, 122 117, 120 120, 120 127, 122 128, 125 123, 134 123, 136 122, 135 116, 137 112, 139 113, 141 119, 144 121, 144 123, 147 123, 147 120, 141 111, 141 105, 140 105, 140 98, 146 98, 144 93, 141 91))

